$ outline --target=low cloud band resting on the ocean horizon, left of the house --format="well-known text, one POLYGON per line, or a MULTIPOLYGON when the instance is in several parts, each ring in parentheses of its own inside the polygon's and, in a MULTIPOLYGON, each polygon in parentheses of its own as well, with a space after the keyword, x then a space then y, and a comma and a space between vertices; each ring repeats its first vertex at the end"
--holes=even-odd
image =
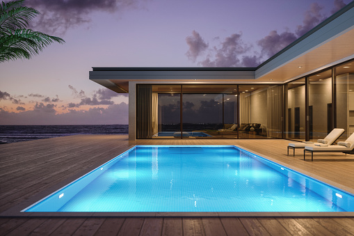
POLYGON ((47 112, 47 107, 38 104, 40 109, 19 113, 4 111, 0 108, 1 125, 110 125, 128 124, 128 104, 112 104, 106 108, 94 107, 88 111, 70 109, 68 113, 47 112))

